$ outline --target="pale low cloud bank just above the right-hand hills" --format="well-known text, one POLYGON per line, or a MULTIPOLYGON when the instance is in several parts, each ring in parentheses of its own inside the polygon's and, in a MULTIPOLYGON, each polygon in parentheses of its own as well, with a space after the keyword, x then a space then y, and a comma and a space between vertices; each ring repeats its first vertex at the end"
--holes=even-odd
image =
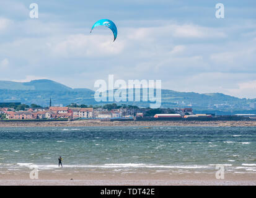
MULTIPOLYGON (((191 92, 196 90, 199 93, 224 93, 234 97, 256 98, 256 74, 240 74, 225 72, 201 72, 164 80, 162 88, 172 87, 180 92, 191 92), (179 84, 177 84, 179 82, 179 84)), ((195 92, 195 91, 194 91, 195 92)))

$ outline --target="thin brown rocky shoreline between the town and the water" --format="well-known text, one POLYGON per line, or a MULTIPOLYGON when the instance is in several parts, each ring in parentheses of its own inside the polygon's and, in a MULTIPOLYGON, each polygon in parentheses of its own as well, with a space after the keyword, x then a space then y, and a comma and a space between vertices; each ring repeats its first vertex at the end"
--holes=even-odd
POLYGON ((15 121, 0 122, 0 127, 82 127, 82 126, 256 126, 256 120, 251 121, 15 121))

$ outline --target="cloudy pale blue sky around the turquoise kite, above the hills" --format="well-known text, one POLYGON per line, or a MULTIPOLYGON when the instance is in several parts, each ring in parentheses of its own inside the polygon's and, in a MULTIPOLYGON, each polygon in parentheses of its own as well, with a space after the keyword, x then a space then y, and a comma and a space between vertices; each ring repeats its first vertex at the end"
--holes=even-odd
POLYGON ((0 80, 162 80, 162 88, 256 98, 256 2, 1 0, 0 80), (38 4, 38 19, 30 4, 38 4), (224 4, 224 19, 215 16, 224 4), (117 25, 118 36, 99 19, 117 25))

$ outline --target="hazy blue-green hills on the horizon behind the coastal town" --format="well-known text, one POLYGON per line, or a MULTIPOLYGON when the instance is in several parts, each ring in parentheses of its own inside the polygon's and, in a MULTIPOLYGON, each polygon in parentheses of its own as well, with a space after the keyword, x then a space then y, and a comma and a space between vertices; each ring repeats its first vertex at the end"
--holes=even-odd
MULTIPOLYGON (((255 99, 247 100, 224 95, 223 93, 195 93, 162 90, 163 108, 193 108, 198 113, 217 114, 256 113, 255 99)), ((127 92, 128 93, 128 92, 127 92)), ((142 93, 142 91, 141 91, 142 93)), ((102 105, 97 103, 94 91, 87 88, 70 88, 53 80, 32 80, 31 82, 0 81, 0 102, 19 101, 30 105, 35 103, 48 106, 50 97, 53 105, 69 105, 70 103, 85 105, 102 105)), ((120 102, 126 105, 148 107, 149 102, 120 102)))

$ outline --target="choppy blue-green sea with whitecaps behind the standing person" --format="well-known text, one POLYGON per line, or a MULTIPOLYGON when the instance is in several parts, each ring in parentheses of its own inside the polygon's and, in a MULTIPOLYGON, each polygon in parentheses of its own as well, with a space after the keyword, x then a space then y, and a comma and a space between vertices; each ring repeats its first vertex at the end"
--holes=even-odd
POLYGON ((256 127, 0 128, 0 173, 58 167, 256 173, 256 127))

